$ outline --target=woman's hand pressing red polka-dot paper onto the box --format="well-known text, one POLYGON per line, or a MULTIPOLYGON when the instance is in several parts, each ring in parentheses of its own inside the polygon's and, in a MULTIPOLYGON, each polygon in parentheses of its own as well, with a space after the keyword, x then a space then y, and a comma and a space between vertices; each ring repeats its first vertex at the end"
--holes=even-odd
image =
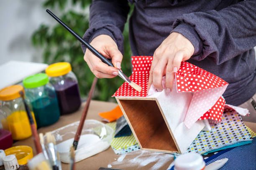
POLYGON ((158 91, 163 90, 162 77, 166 75, 166 88, 172 90, 174 72, 179 70, 181 62, 188 60, 194 51, 194 46, 187 38, 172 32, 154 52, 148 89, 153 84, 158 91))

